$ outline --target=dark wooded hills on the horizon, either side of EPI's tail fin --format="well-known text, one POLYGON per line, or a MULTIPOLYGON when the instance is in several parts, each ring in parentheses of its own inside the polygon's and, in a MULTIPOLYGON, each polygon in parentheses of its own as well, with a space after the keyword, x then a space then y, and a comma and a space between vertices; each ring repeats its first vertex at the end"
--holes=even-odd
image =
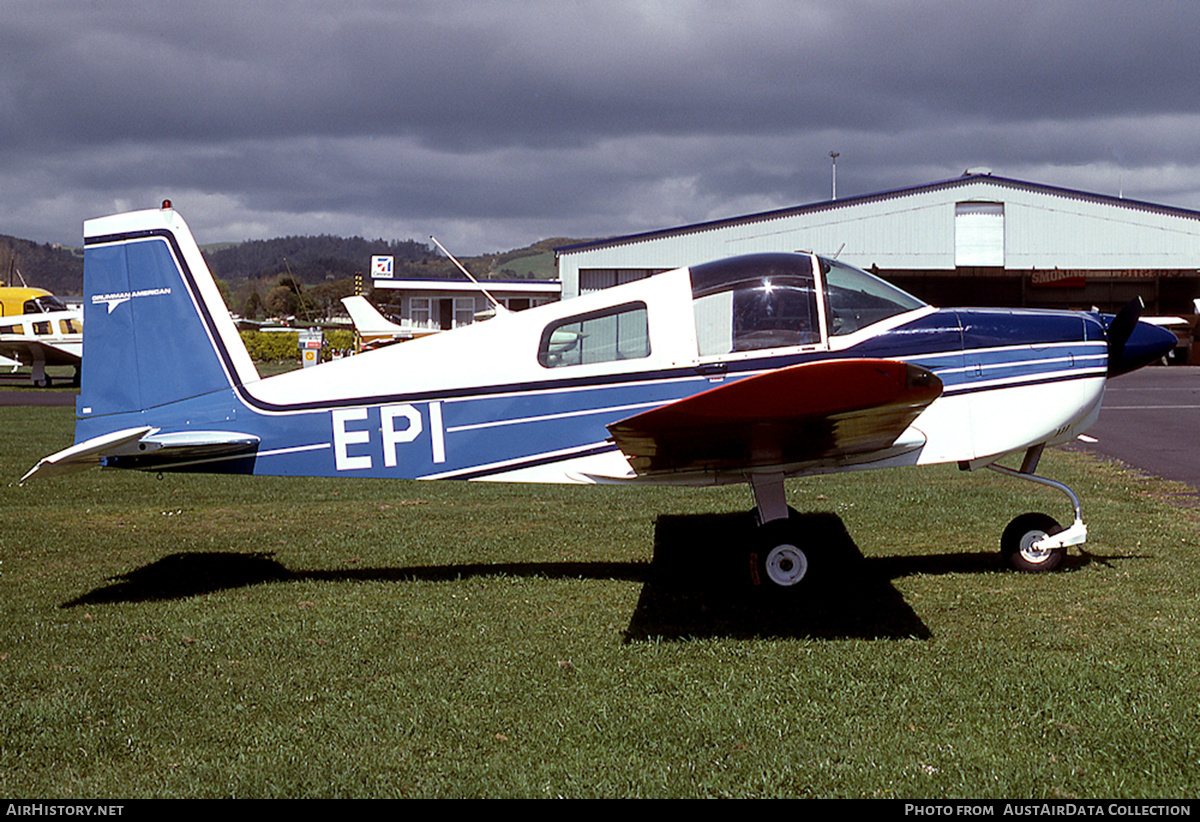
MULTIPOLYGON (((551 280, 554 277, 553 248, 574 242, 578 240, 554 238, 494 254, 460 257, 460 262, 479 278, 551 280)), ((250 283, 275 281, 280 275, 290 275, 305 286, 352 278, 355 272, 361 272, 367 280, 371 257, 376 254, 395 258, 397 277, 462 276, 440 251, 415 240, 284 236, 214 244, 204 246, 202 251, 212 275, 224 281, 232 290, 242 289, 250 283)), ((7 280, 13 268, 22 272, 31 287, 44 288, 60 296, 78 296, 83 293, 80 248, 40 245, 0 235, 0 280, 7 280)))

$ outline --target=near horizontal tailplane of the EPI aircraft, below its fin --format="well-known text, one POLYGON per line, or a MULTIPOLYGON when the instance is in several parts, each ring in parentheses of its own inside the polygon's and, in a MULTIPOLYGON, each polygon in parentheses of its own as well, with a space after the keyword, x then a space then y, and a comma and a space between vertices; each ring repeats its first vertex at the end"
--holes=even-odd
POLYGON ((258 437, 229 431, 182 431, 155 433, 149 426, 126 428, 95 437, 38 462, 20 481, 34 475, 54 476, 97 464, 122 468, 169 469, 194 461, 224 460, 252 455, 258 437))

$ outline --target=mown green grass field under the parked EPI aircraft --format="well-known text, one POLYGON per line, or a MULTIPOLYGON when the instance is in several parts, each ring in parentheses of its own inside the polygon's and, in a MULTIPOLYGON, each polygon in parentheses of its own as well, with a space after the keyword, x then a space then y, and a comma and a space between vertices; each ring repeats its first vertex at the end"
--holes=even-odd
POLYGON ((743 583, 744 488, 103 473, 4 408, 0 796, 1200 796, 1200 532, 1081 454, 1082 556, 1001 570, 1051 491, 798 481, 840 550, 743 583))

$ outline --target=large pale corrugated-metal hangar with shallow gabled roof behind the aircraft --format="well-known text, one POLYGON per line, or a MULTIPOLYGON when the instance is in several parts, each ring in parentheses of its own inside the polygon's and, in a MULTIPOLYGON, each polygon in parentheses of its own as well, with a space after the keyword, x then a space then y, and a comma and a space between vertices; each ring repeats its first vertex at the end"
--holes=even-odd
POLYGON ((994 176, 828 200, 556 250, 563 298, 760 251, 815 251, 934 305, 1194 313, 1200 211, 994 176))

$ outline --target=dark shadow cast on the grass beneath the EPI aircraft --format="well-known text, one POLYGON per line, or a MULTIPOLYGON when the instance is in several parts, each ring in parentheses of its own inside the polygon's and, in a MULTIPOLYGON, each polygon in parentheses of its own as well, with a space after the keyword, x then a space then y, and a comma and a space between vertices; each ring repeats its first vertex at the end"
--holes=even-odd
MULTIPOLYGON (((455 581, 518 576, 641 582, 626 640, 686 637, 928 638, 929 629, 893 580, 916 574, 992 574, 996 552, 866 558, 835 514, 803 514, 810 577, 803 590, 750 583, 745 540, 752 512, 662 515, 649 563, 468 563, 293 571, 271 553, 181 552, 110 577, 62 607, 185 599, 271 582, 455 581), (820 547, 817 547, 820 546, 820 547)), ((1068 568, 1092 562, 1069 557, 1068 568)))

